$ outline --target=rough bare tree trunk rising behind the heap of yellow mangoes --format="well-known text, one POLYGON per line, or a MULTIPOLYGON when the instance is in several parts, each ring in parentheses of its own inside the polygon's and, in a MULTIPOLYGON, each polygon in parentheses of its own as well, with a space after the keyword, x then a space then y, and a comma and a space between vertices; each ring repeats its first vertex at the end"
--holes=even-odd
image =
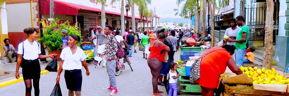
POLYGON ((271 61, 273 58, 273 14, 274 14, 274 2, 271 0, 266 0, 267 3, 267 13, 266 13, 266 23, 265 23, 265 53, 263 65, 266 69, 271 68, 271 61))

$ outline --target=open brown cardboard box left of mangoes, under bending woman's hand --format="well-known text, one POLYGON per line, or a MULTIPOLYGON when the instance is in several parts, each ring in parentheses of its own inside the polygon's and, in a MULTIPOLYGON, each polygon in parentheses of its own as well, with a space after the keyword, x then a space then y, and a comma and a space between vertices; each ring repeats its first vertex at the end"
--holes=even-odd
POLYGON ((223 78, 224 83, 227 84, 253 84, 252 78, 249 78, 246 74, 224 73, 224 75, 231 76, 223 78))

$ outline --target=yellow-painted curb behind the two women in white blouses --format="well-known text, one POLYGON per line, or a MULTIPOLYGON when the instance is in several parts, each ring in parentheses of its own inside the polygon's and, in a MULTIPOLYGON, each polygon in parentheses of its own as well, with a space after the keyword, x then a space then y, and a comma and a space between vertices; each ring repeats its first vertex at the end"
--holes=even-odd
MULTIPOLYGON (((57 67, 57 69, 59 70, 59 66, 57 67)), ((47 74, 47 73, 50 73, 50 72, 47 71, 47 70, 40 71, 40 75, 47 74)), ((7 81, 4 81, 4 82, 1 82, 0 83, 0 88, 4 87, 4 86, 12 85, 14 83, 18 83, 18 82, 21 82, 21 81, 23 81, 23 76, 20 77, 19 79, 14 78, 14 79, 11 79, 11 80, 7 80, 7 81)))

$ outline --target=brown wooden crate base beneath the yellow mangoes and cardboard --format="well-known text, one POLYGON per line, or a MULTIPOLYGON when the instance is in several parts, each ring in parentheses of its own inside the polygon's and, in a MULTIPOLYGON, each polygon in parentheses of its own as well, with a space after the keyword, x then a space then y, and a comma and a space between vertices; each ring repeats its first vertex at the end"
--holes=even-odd
POLYGON ((275 92, 275 91, 265 91, 265 90, 255 90, 253 85, 227 85, 225 86, 224 94, 221 96, 289 96, 289 93, 275 92))

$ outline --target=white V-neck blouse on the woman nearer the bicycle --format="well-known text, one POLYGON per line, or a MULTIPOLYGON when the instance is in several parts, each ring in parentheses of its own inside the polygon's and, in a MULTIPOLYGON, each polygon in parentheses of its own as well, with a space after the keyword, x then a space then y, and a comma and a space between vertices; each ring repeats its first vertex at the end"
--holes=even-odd
POLYGON ((82 68, 81 61, 84 61, 86 56, 83 50, 77 46, 74 54, 72 54, 70 47, 64 48, 60 54, 60 58, 64 60, 62 69, 73 70, 82 68))

